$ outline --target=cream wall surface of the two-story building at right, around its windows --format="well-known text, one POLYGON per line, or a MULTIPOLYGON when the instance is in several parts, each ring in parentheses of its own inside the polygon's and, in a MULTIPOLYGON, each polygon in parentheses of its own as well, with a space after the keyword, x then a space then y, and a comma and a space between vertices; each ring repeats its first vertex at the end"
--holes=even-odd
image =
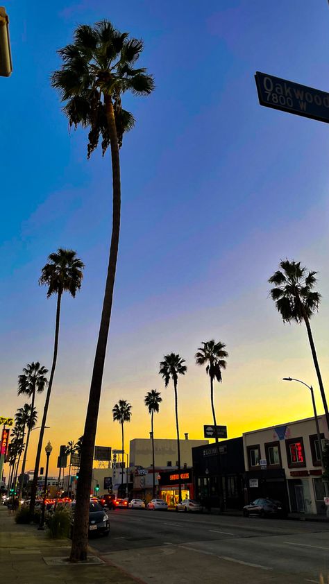
MULTIPOLYGON (((319 416, 319 427, 321 436, 328 438, 324 415, 319 416)), ((317 429, 314 418, 306 418, 305 420, 281 424, 278 427, 244 433, 244 463, 248 478, 259 476, 264 485, 267 480, 274 480, 273 478, 271 479, 271 475, 274 476, 275 471, 279 474, 283 470, 282 480, 287 480, 286 489, 290 510, 301 513, 325 513, 326 508, 321 497, 323 486, 319 481, 321 479, 321 462, 317 459, 317 456, 314 456, 316 434, 317 429), (300 458, 303 458, 303 461, 292 461, 289 445, 290 443, 294 444, 294 439, 298 439, 296 443, 301 443, 302 445, 300 458), (273 464, 273 459, 271 464, 269 460, 269 448, 266 445, 271 445, 271 443, 278 445, 280 454, 278 464, 273 464), (251 450, 257 451, 258 448, 260 459, 267 461, 266 470, 261 470, 259 464, 252 464, 255 463, 255 454, 252 454, 251 450), (269 472, 271 472, 271 475, 269 472)), ((269 488, 273 488, 273 486, 269 488)), ((256 494, 256 491, 250 489, 250 497, 252 497, 253 493, 256 494)))

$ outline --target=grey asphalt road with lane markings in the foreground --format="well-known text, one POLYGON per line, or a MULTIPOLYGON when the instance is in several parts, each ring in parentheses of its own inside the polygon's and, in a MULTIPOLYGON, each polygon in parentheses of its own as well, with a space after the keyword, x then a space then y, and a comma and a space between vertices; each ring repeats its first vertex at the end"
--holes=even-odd
POLYGON ((119 509, 109 515, 110 537, 90 544, 145 583, 329 583, 326 523, 119 509))

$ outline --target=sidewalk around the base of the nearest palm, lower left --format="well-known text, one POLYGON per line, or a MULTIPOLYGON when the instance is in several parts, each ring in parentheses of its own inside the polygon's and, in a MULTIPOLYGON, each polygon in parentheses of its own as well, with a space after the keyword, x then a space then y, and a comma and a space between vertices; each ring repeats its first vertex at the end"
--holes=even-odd
MULTIPOLYGON (((92 541, 91 541, 92 545, 92 541)), ((95 562, 56 565, 68 558, 70 540, 51 540, 36 525, 17 525, 7 507, 0 505, 1 581, 19 584, 133 584, 141 582, 126 575, 112 562, 102 560, 90 549, 95 562)), ((109 538, 110 551, 110 538, 109 538)))

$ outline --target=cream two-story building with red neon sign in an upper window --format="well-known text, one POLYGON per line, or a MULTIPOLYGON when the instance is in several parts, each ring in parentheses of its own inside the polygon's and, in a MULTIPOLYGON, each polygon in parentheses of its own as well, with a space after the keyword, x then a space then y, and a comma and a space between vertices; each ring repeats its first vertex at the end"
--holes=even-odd
MULTIPOLYGON (((326 418, 319 415, 322 445, 329 439, 326 418)), ((326 513, 319 440, 314 418, 243 434, 249 501, 278 499, 297 513, 326 513)))

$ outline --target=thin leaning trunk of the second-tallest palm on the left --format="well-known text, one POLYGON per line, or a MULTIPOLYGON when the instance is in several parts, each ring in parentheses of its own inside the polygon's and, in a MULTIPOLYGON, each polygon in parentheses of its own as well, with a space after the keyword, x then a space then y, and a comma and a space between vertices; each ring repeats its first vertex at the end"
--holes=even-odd
POLYGON ((35 457, 33 483, 32 483, 32 488, 31 488, 30 513, 34 513, 35 497, 37 495, 37 477, 39 476, 42 441, 44 439, 44 427, 46 426, 46 422, 47 422, 47 413, 48 413, 50 396, 51 396, 51 388, 53 386, 53 376, 55 375, 57 353, 58 353, 58 337, 60 334, 60 301, 61 301, 61 299, 62 299, 62 292, 58 292, 57 307, 56 307, 55 338, 53 341, 53 363, 51 365, 51 372, 50 372, 49 384, 48 384, 48 388, 47 388, 46 401, 44 402, 44 413, 42 416, 42 422, 41 422, 41 428, 40 428, 40 434, 39 434, 39 442, 37 443, 37 456, 35 457))

